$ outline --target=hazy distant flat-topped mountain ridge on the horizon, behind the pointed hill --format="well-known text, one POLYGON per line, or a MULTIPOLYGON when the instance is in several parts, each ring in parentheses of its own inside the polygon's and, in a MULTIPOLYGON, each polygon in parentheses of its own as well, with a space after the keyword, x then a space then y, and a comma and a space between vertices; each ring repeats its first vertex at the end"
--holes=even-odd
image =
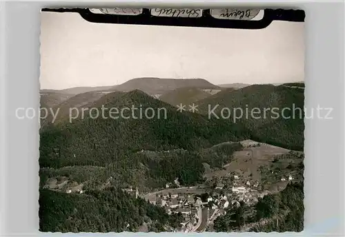
MULTIPOLYGON (((43 89, 40 91, 41 107, 55 107, 63 101, 70 99, 72 96, 87 92, 130 92, 132 90, 141 90, 142 92, 150 94, 155 98, 159 98, 159 96, 164 94, 162 101, 174 104, 177 97, 181 97, 181 99, 183 98, 189 103, 190 101, 204 99, 206 98, 206 96, 215 94, 221 90, 221 87, 213 85, 205 79, 159 79, 153 77, 137 78, 126 81, 121 85, 99 87, 72 87, 63 90, 43 89), (186 88, 186 90, 184 90, 184 88, 186 88)), ((84 94, 83 96, 92 96, 92 93, 84 94)), ((83 97, 81 96, 77 98, 83 97)))

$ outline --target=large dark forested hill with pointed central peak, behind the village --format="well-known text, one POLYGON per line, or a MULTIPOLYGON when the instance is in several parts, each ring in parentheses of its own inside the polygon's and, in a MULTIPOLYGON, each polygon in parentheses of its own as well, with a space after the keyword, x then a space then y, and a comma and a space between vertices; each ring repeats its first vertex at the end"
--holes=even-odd
MULTIPOLYGON (((176 107, 135 90, 101 97, 91 107, 152 107, 154 118, 102 118, 75 119, 72 123, 59 123, 41 131, 41 167, 68 165, 99 165, 112 163, 120 156, 140 150, 199 150, 224 141, 239 141, 249 133, 241 125, 208 119, 207 116, 177 112, 176 107), (166 108, 164 111, 157 109, 166 108), (160 114, 160 118, 158 118, 160 114)), ((131 112, 126 111, 125 116, 131 112)), ((138 117, 139 115, 136 114, 138 117)))

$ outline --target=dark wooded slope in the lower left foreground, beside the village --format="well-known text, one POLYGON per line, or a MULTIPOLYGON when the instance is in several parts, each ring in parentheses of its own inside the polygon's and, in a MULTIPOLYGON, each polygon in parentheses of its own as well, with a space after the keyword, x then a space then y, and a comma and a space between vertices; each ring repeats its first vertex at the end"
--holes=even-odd
POLYGON ((144 223, 148 224, 148 231, 169 231, 179 225, 179 217, 168 216, 162 207, 114 187, 86 194, 40 190, 39 231, 139 231, 144 223))

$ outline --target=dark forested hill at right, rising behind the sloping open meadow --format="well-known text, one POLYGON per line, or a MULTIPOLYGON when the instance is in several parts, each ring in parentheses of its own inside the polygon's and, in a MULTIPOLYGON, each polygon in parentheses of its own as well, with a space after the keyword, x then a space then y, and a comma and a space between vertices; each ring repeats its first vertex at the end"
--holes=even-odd
POLYGON ((239 90, 221 91, 199 101, 198 105, 201 114, 210 114, 211 118, 215 118, 210 113, 213 111, 219 120, 242 125, 250 131, 251 139, 255 141, 292 150, 304 148, 303 88, 285 85, 250 85, 239 90), (235 108, 241 109, 243 116, 238 109, 236 112, 238 118, 234 120, 235 108), (294 108, 297 108, 295 112, 294 108), (229 110, 230 117, 228 117, 229 110))

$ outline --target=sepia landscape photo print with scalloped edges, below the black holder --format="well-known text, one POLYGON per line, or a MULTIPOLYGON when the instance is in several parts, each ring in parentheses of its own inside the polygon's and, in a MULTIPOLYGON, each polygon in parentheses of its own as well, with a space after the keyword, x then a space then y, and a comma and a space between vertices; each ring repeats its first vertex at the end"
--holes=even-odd
POLYGON ((39 231, 303 231, 304 31, 42 11, 39 231))

